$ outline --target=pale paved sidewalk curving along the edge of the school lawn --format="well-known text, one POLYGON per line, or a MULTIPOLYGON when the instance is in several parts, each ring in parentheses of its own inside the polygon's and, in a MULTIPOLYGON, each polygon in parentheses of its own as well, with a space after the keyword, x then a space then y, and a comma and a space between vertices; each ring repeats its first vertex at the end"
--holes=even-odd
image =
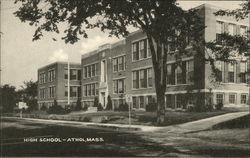
MULTIPOLYGON (((33 118, 21 118, 31 121, 48 122, 48 123, 58 123, 58 124, 71 124, 77 126, 90 126, 90 127, 101 127, 110 129, 125 129, 125 130, 140 130, 143 132, 154 132, 154 131, 166 131, 174 133, 185 133, 194 132, 200 130, 210 129, 215 124, 235 119, 244 115, 249 114, 249 112, 235 112, 228 113, 224 115, 214 116, 198 121, 192 121, 180 125, 166 126, 166 127, 154 127, 154 126, 144 126, 144 125, 127 125, 127 124, 108 124, 108 123, 93 123, 93 122, 77 122, 77 121, 64 121, 64 120, 47 120, 47 119, 33 119, 33 118)), ((13 118, 13 117, 8 117, 13 118)))

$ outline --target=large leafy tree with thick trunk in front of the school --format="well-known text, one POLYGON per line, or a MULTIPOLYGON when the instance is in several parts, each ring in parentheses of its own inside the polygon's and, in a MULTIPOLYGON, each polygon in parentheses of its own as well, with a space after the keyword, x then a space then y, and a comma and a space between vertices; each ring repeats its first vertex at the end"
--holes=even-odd
MULTIPOLYGON (((59 24, 67 23, 62 37, 75 43, 79 36, 87 38, 86 29, 100 28, 111 36, 128 35, 128 27, 141 29, 148 38, 155 73, 157 123, 164 123, 166 61, 169 55, 179 58, 186 46, 202 41, 204 26, 196 10, 184 11, 176 0, 16 0, 22 5, 14 14, 22 21, 36 26, 33 40, 43 32, 60 33, 59 24), (191 39, 191 43, 189 43, 191 39), (176 51, 171 51, 173 48, 176 51)), ((54 39, 55 40, 55 39, 54 39)))

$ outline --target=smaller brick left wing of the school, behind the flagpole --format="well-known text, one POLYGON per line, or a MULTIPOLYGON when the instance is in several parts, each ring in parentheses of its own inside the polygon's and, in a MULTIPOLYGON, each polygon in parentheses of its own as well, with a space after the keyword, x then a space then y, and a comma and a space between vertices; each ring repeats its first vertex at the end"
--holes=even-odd
POLYGON ((68 76, 70 76, 70 104, 81 98, 81 64, 70 63, 68 75, 67 62, 55 62, 38 69, 38 105, 49 108, 54 105, 68 105, 68 76))

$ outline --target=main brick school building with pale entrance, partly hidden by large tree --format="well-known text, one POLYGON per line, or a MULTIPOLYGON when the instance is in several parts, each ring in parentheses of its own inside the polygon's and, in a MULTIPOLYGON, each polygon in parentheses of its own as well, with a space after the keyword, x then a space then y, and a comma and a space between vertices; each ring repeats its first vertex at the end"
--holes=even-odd
MULTIPOLYGON (((211 5, 197 7, 203 18, 206 41, 220 40, 220 34, 246 34, 249 20, 236 21, 233 17, 215 16, 218 8, 211 5)), ((218 61, 219 80, 214 82, 210 63, 187 48, 192 55, 183 55, 176 61, 167 61, 167 108, 186 108, 188 104, 246 105, 248 64, 245 59, 235 63, 218 61)), ((201 53, 206 56, 207 51, 201 53)), ((142 31, 128 35, 114 44, 105 44, 97 50, 82 55, 82 104, 93 106, 94 99, 105 107, 110 96, 113 109, 125 102, 125 95, 132 96, 133 109, 145 109, 155 100, 154 70, 147 37, 142 31)))

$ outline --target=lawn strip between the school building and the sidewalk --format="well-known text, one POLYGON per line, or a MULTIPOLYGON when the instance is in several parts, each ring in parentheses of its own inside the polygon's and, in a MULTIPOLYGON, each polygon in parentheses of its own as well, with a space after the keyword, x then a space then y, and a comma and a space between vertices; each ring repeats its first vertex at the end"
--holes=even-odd
MULTIPOLYGON (((164 126, 176 125, 237 111, 238 110, 234 108, 224 108, 223 110, 220 111, 211 111, 211 112, 166 111, 165 113, 166 121, 163 125, 164 126)), ((98 111, 94 113, 77 111, 65 115, 54 115, 54 114, 49 115, 46 113, 35 112, 31 114, 23 114, 23 117, 70 120, 70 121, 81 121, 81 122, 113 123, 113 124, 129 123, 128 112, 118 112, 118 111, 98 111)), ((134 125, 153 126, 155 125, 156 119, 157 119, 156 112, 145 112, 145 111, 131 112, 131 123, 134 125)))

